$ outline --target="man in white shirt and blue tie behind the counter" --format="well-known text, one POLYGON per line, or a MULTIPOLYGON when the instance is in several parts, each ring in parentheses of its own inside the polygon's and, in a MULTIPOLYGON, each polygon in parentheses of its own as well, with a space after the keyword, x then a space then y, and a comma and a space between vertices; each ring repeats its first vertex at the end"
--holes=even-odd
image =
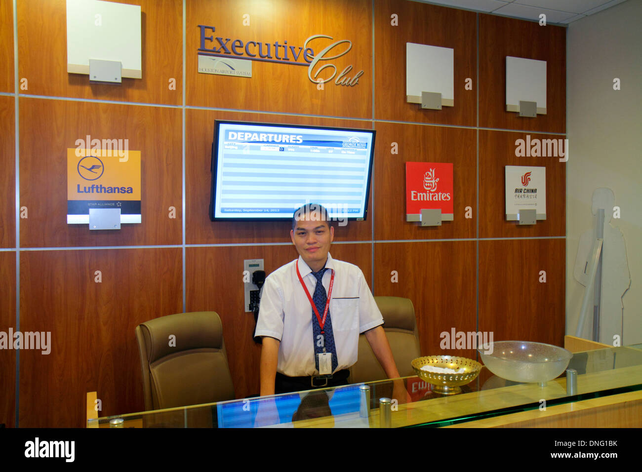
POLYGON ((386 376, 398 378, 363 272, 329 254, 334 227, 325 208, 297 209, 290 237, 299 259, 272 272, 261 295, 255 332, 263 337, 261 396, 347 385, 360 333, 386 376))

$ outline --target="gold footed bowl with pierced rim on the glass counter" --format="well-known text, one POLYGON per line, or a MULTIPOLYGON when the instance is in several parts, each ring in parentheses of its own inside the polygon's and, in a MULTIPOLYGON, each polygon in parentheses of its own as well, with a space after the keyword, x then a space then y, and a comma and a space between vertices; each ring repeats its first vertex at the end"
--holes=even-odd
POLYGON ((482 370, 482 364, 472 359, 456 356, 424 356, 418 357, 411 362, 412 368, 415 369, 417 377, 434 385, 433 392, 442 395, 454 395, 462 391, 461 385, 466 385, 477 378, 482 370), (441 367, 442 369, 453 369, 463 372, 458 374, 446 372, 430 372, 421 368, 424 365, 431 367, 441 367))

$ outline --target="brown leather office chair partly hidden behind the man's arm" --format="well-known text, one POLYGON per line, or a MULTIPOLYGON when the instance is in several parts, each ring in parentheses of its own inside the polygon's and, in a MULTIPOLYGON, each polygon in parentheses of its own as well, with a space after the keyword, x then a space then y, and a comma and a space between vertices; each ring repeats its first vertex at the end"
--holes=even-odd
MULTIPOLYGON (((386 332, 392 356, 397 364, 399 375, 402 377, 415 375, 412 369, 413 359, 421 356, 419 333, 412 301, 401 297, 374 297, 383 315, 386 332)), ((357 362, 350 369, 349 383, 360 383, 386 379, 386 373, 379 365, 365 335, 359 337, 359 353, 357 362)))

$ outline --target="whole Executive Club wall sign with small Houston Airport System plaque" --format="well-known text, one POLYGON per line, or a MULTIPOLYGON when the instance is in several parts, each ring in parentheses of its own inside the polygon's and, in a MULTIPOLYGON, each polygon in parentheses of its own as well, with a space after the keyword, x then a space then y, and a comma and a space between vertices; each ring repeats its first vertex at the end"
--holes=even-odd
POLYGON ((288 44, 288 40, 261 42, 216 36, 214 26, 198 25, 198 71, 200 73, 252 76, 252 62, 272 62, 308 67, 313 83, 333 81, 335 85, 358 85, 363 70, 354 72, 352 65, 339 71, 333 61, 352 49, 347 39, 335 40, 327 35, 312 35, 303 44, 288 44), (209 61, 209 65, 206 63, 209 61))

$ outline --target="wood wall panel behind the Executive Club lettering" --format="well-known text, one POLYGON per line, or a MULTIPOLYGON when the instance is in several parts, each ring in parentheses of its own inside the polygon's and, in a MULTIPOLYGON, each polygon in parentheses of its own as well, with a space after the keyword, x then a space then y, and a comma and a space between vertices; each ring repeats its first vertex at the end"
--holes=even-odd
MULTIPOLYGON (((187 105, 238 110, 302 113, 350 118, 372 118, 372 8, 370 0, 313 1, 212 1, 187 2, 187 105), (244 24, 248 15, 249 24, 244 24), (207 36, 295 46, 299 51, 312 35, 326 35, 309 43, 315 51, 331 43, 350 39, 352 48, 347 55, 324 61, 315 67, 317 73, 325 64, 336 67, 336 75, 352 65, 349 75, 365 71, 358 85, 334 85, 334 80, 319 90, 308 79, 308 67, 254 62, 252 78, 196 74, 196 51, 200 48, 198 25, 216 28, 207 36)), ((232 40, 228 48, 232 45, 232 40)), ((218 47, 218 42, 205 42, 206 48, 218 47)), ((337 46, 329 55, 338 55, 347 45, 337 46)), ((270 49, 275 59, 275 48, 270 49)), ((254 49, 250 49, 250 52, 254 49)), ((257 51, 257 50, 256 50, 257 51)), ((256 54, 256 51, 254 54, 256 54)), ((263 50, 267 53, 267 47, 263 50)), ((281 51, 281 54, 282 51, 281 51)), ((291 54, 290 54, 291 58, 291 54)), ((299 59, 300 61, 300 59, 299 59)), ((333 74, 329 67, 318 77, 333 74)))

